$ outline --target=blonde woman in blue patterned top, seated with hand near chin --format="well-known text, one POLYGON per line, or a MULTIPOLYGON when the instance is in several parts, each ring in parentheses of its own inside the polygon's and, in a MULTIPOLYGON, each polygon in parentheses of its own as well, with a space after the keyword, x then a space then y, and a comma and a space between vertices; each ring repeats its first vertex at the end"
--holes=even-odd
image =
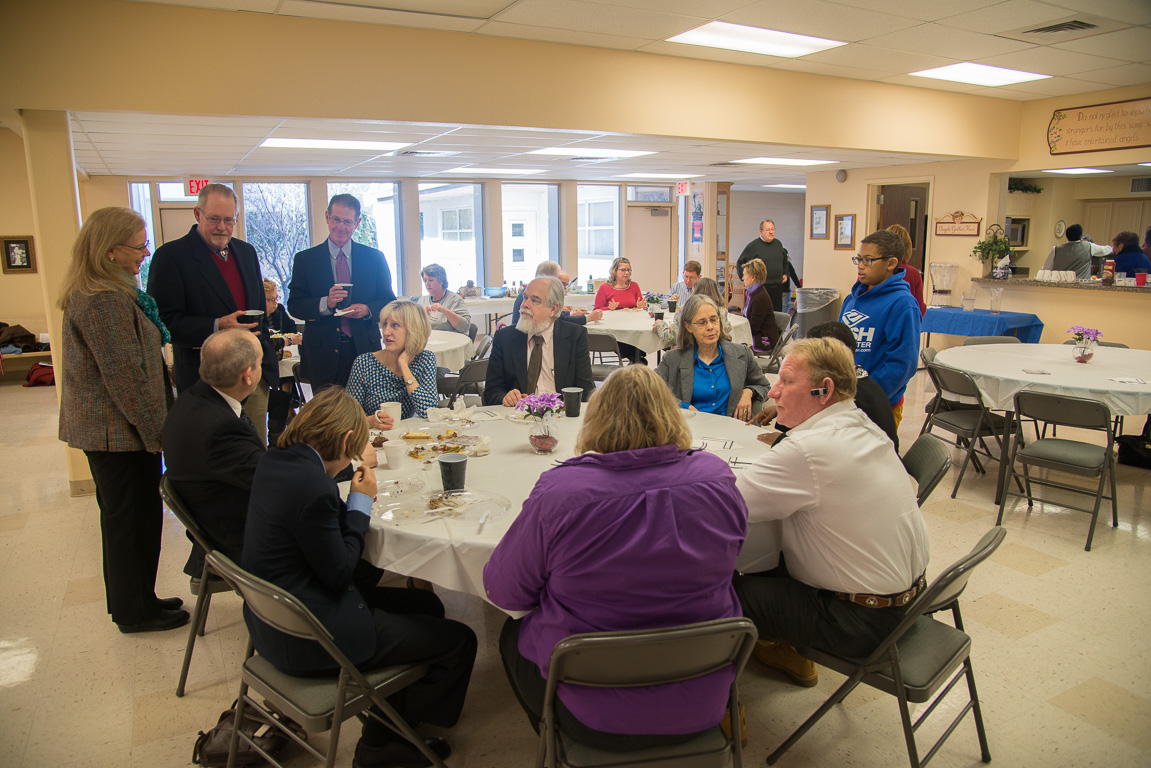
MULTIPOLYGON (((401 418, 426 418, 439 402, 435 355, 425 349, 432 334, 427 313, 414 302, 396 299, 380 310, 380 330, 383 349, 356 358, 348 394, 369 418, 380 403, 399 403, 401 418)), ((382 418, 380 426, 390 429, 391 420, 382 418)))

